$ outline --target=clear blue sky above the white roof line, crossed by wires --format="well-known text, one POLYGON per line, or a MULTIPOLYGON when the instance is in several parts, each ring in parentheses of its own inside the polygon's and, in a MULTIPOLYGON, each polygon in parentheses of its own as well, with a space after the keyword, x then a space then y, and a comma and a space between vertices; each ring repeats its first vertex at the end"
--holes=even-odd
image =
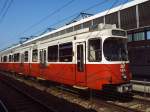
MULTIPOLYGON (((7 0, 0 0, 0 11, 7 0)), ((11 0, 8 0, 11 1, 11 0)), ((68 18, 57 25, 55 23, 71 15, 80 13, 97 3, 107 1, 103 5, 99 5, 85 12, 96 14, 105 9, 109 9, 112 4, 117 1, 118 4, 127 2, 127 0, 73 0, 67 7, 57 13, 51 15, 35 27, 29 28, 36 24, 43 17, 53 13, 58 8, 65 5, 71 0, 13 0, 6 16, 0 21, 0 49, 6 48, 14 43, 19 42, 20 37, 29 37, 38 35, 48 27, 58 27, 67 23, 72 18, 68 18), (28 29, 28 30, 26 30, 28 29)), ((0 20, 3 13, 0 13, 0 20)))

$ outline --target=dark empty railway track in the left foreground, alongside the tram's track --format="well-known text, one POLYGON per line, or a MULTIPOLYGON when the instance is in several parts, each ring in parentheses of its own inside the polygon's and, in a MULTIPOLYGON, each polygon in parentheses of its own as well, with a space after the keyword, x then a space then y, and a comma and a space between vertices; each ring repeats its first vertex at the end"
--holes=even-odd
POLYGON ((93 112, 3 75, 0 91, 8 112, 93 112))

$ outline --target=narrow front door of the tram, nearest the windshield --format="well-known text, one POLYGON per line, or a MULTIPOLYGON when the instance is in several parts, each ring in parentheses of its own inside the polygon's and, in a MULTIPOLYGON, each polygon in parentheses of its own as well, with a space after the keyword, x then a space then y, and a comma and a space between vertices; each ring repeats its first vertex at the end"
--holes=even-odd
POLYGON ((86 86, 85 42, 76 43, 76 85, 86 86))

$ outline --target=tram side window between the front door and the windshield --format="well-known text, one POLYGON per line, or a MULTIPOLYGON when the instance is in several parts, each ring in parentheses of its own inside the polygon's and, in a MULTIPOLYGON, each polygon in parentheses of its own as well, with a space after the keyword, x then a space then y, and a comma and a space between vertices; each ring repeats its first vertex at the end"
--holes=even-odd
POLYGON ((88 60, 89 62, 100 62, 101 56, 101 39, 94 38, 88 41, 88 60))

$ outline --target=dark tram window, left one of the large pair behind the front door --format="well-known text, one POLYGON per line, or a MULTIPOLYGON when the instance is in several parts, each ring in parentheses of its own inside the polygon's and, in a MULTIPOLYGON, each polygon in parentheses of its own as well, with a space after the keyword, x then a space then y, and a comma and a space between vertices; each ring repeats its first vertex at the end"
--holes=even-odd
POLYGON ((48 62, 58 61, 58 45, 48 47, 48 62))

